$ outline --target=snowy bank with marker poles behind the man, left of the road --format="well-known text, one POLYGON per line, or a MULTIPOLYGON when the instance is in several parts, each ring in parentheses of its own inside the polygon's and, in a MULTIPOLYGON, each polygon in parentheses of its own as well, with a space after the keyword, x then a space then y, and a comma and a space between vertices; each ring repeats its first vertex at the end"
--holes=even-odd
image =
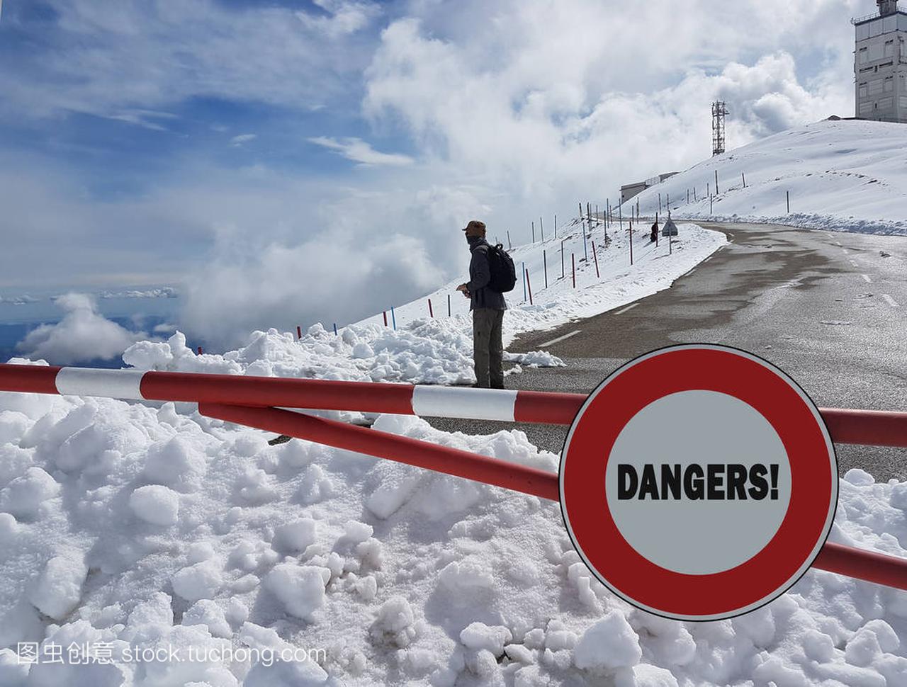
MULTIPOLYGON (((667 238, 659 236, 656 245, 649 243, 650 223, 636 223, 631 266, 629 226, 628 219, 624 219, 622 225, 615 220, 606 231, 600 220, 593 218, 590 226, 576 218, 561 225, 557 237, 549 233, 544 241, 540 236, 537 243, 513 247, 509 252, 516 265, 517 284, 511 293, 504 295, 510 308, 504 315, 504 343, 512 343, 524 332, 551 329, 575 319, 601 314, 669 288, 679 276, 727 244, 727 237, 720 232, 695 224, 681 224, 678 237, 668 242, 667 238)), ((492 231, 488 240, 489 243, 496 240, 492 231)), ((502 243, 507 246, 506 237, 502 243)), ((463 242, 463 251, 467 250, 463 242)), ((459 318, 464 333, 471 337, 469 299, 456 291, 463 281, 468 278, 463 276, 432 294, 395 307, 397 325, 422 322, 429 314, 428 302, 431 300, 437 321, 456 322, 459 318)), ((390 310, 385 314, 390 322, 390 310)), ((359 324, 381 325, 383 322, 384 314, 376 314, 359 324)))

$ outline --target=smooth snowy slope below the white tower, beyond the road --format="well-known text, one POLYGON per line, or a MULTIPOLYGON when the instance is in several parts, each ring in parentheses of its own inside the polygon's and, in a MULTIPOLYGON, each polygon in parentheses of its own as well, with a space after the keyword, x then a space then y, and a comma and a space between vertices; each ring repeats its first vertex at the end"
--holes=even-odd
POLYGON ((907 234, 904 150, 902 124, 818 121, 700 162, 632 198, 624 212, 639 202, 642 214, 654 215, 660 194, 663 211, 670 197, 674 218, 907 234))

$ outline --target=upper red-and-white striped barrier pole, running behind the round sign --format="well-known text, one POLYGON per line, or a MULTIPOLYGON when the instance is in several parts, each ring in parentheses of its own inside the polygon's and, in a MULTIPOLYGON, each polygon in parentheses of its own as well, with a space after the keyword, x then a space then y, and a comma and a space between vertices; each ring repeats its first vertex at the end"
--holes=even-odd
MULTIPOLYGON (((0 364, 0 392, 572 423, 581 393, 0 364)), ((836 443, 907 448, 907 412, 820 409, 836 443)))

